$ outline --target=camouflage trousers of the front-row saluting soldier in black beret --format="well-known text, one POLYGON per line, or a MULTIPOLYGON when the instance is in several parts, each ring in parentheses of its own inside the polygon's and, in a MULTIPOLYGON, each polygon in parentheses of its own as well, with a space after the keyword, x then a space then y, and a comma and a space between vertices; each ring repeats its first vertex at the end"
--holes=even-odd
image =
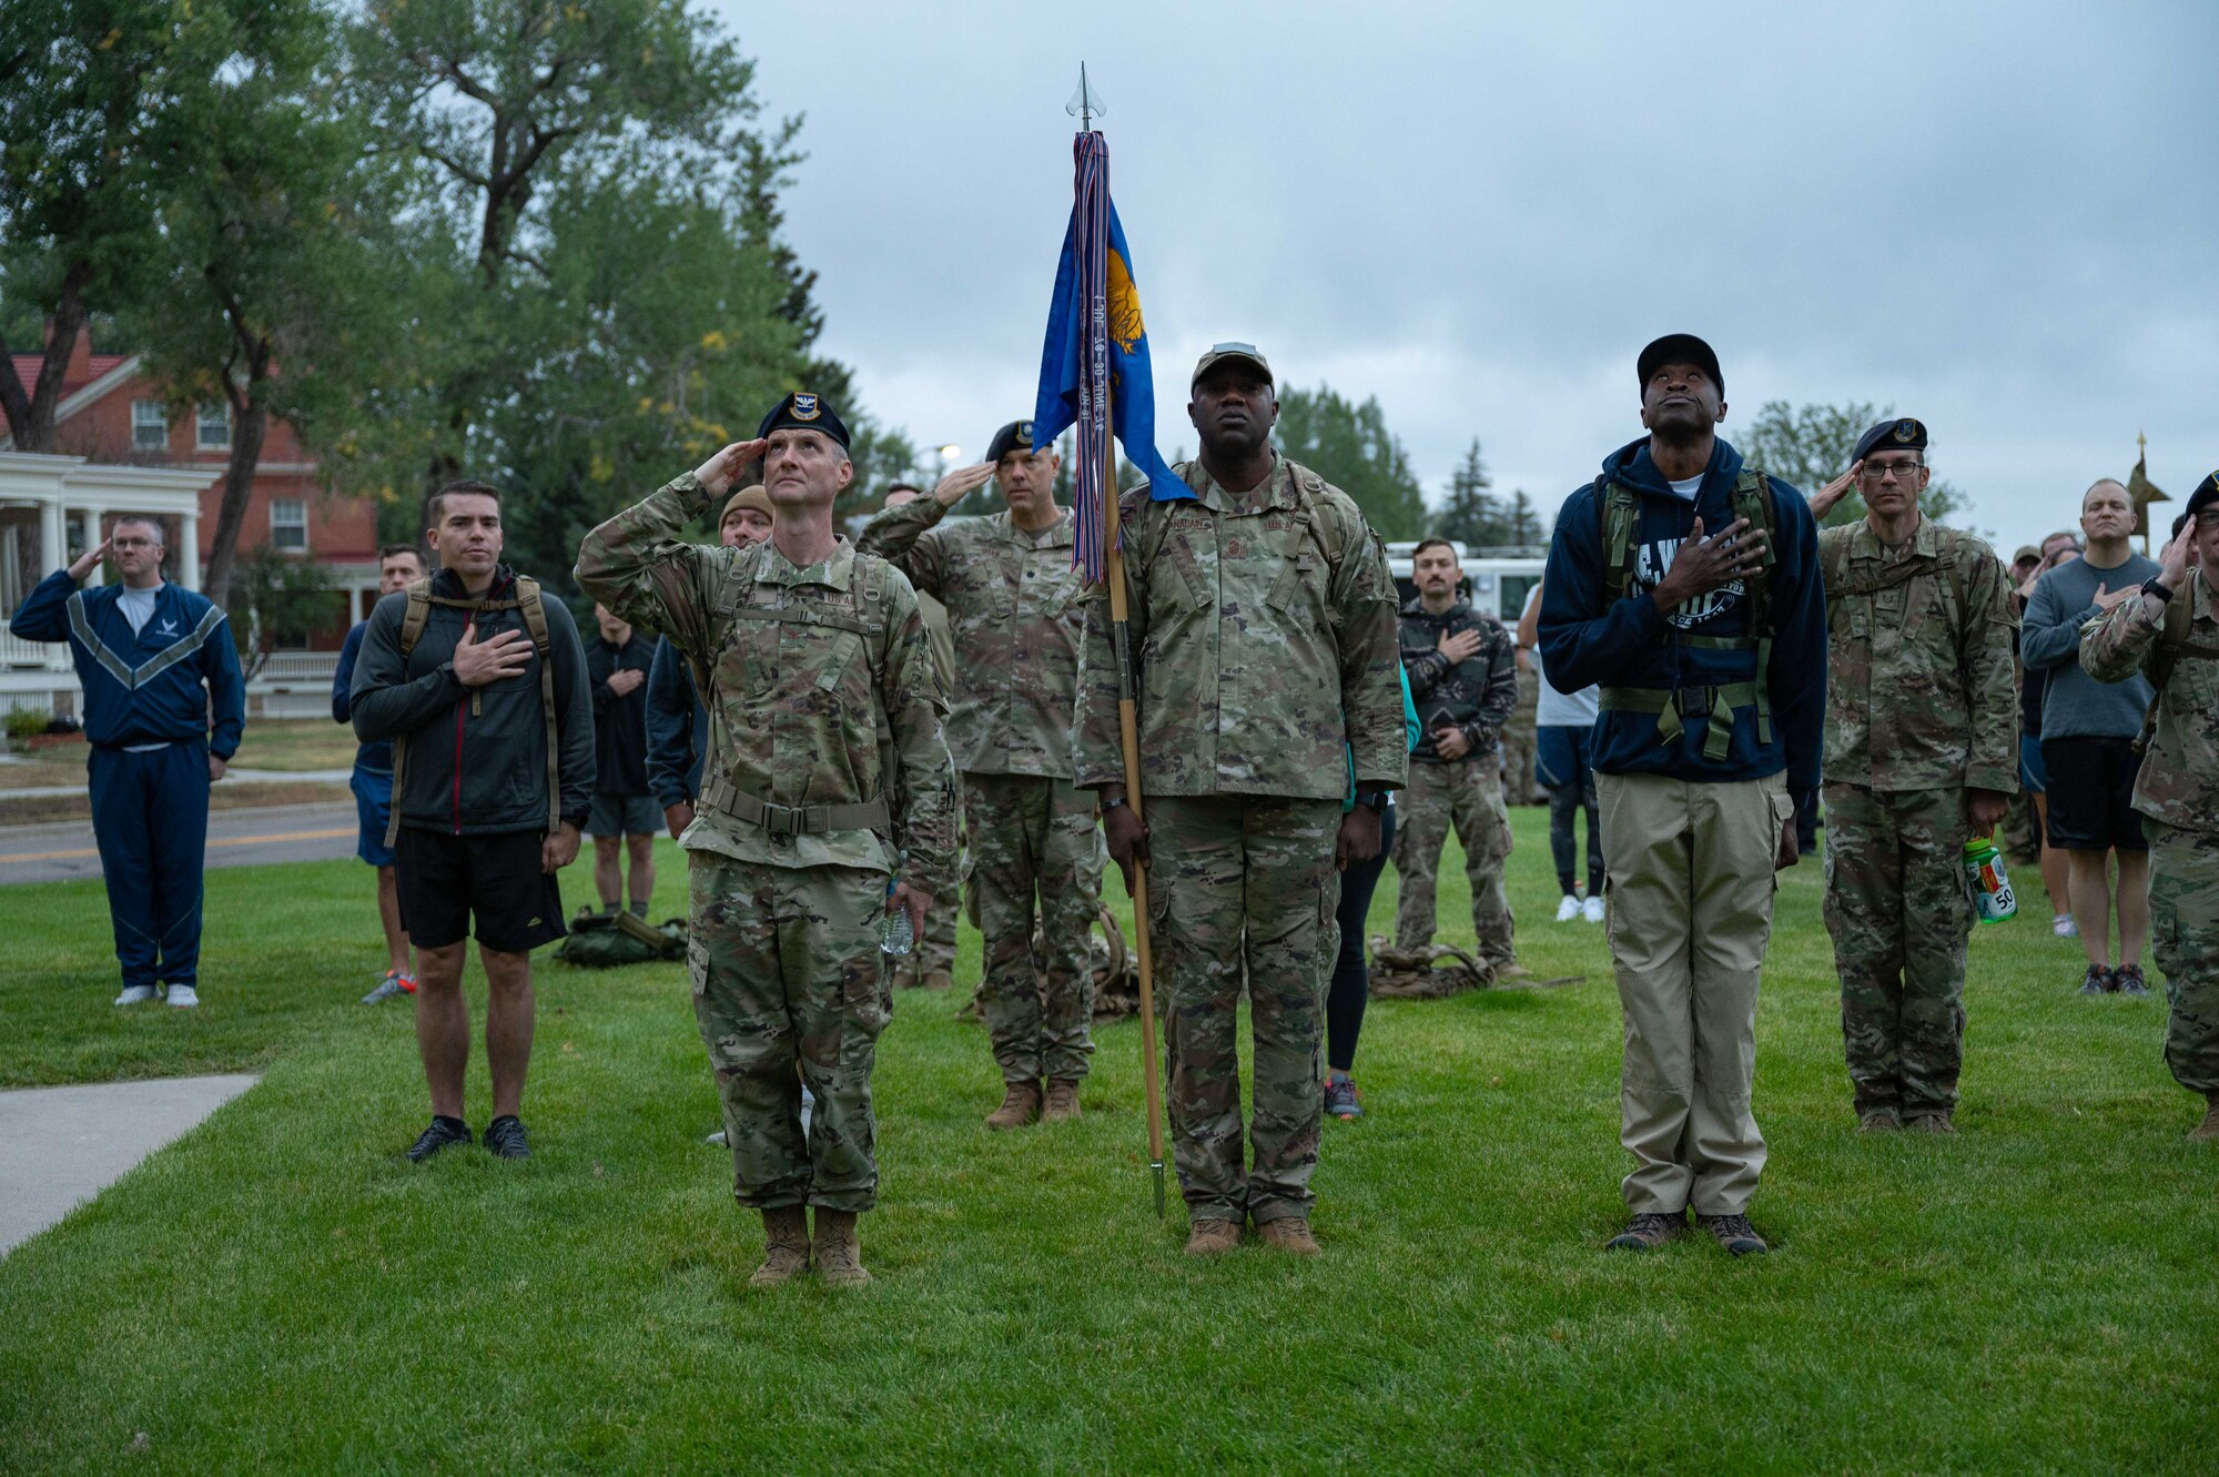
POLYGON ((894 1013, 879 951, 885 874, 715 852, 688 852, 688 860, 686 965, 723 1100, 732 1193, 766 1211, 868 1211, 879 1195, 870 1069, 894 1013), (817 1098, 808 1138, 803 1082, 817 1098))

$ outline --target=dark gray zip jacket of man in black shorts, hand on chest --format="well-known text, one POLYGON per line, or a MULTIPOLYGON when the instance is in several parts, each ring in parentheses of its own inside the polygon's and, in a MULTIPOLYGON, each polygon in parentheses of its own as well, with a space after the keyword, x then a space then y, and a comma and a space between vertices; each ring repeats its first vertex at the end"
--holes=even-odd
MULTIPOLYGON (((515 572, 501 566, 486 599, 515 599, 513 581, 515 572)), ((462 599, 462 581, 448 570, 433 574, 430 588, 437 597, 462 599)), ((541 590, 541 605, 555 663, 561 818, 584 827, 592 805, 592 685, 586 679, 586 645, 553 592, 541 590)), ((408 741, 393 794, 402 825, 453 836, 546 832, 548 750, 546 714, 539 707, 539 654, 530 652, 517 676, 464 687, 450 663, 470 612, 435 603, 404 665, 406 610, 406 592, 377 601, 368 630, 362 632, 351 694, 357 738, 408 741)), ((477 641, 504 630, 530 639, 517 610, 477 614, 477 641)))

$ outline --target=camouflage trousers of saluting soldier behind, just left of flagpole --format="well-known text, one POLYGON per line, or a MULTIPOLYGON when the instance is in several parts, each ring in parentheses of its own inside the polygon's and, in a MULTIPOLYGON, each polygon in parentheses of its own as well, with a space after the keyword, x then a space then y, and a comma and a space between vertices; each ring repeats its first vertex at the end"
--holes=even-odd
POLYGON ((979 1016, 1001 1080, 1076 1082, 1094 1053, 1087 936, 1103 896, 1094 792, 1036 774, 965 774, 963 809, 985 934, 979 1016))

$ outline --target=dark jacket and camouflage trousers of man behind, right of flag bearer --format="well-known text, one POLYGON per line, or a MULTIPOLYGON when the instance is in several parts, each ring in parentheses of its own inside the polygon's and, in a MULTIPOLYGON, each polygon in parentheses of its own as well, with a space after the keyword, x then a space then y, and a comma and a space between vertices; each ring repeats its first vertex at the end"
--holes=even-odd
MULTIPOLYGON (((1400 894, 1394 940, 1398 949, 1433 943, 1433 876, 1453 825, 1471 883, 1471 934, 1480 956, 1502 971, 1518 962, 1518 925, 1502 885, 1511 821, 1496 781, 1496 736, 1518 703, 1516 648, 1502 621, 1476 612, 1469 601, 1456 601, 1436 617, 1422 599, 1402 605, 1400 643, 1425 736, 1409 754, 1409 792, 1396 805, 1394 869, 1400 894), (1460 630, 1480 632, 1482 643, 1451 668, 1438 650, 1440 636, 1460 630), (1465 730, 1471 747, 1462 758, 1440 756, 1436 727, 1465 730)), ((1527 765, 1531 770, 1531 756, 1527 765)))

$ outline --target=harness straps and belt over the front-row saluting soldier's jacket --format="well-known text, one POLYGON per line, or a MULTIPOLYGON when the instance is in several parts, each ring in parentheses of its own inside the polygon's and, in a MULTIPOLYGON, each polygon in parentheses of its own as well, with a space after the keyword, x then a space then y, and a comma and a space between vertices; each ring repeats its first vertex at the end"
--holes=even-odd
MULTIPOLYGON (((768 550, 770 546, 757 546, 768 550)), ((710 630, 723 630, 717 652, 710 654, 708 670, 695 670, 695 681, 701 687, 703 701, 715 707, 719 699, 717 674, 723 670, 723 654, 739 641, 741 630, 750 621, 763 623, 786 623, 794 621, 801 625, 828 625, 832 630, 848 630, 863 639, 863 659, 870 663, 872 687, 885 687, 885 663, 892 648, 892 632, 885 619, 885 599, 877 581, 870 577, 870 568, 879 561, 872 554, 854 552, 848 563, 848 603, 834 605, 821 599, 794 599, 788 597, 781 605, 754 605, 743 597, 757 585, 754 563, 768 559, 768 552, 741 550, 737 559, 726 570, 723 585, 717 590, 715 614, 710 619, 710 630)), ((817 685, 830 692, 839 685, 841 668, 828 668, 817 674, 817 685)), ((741 701, 752 701, 741 694, 741 701)), ((881 770, 892 772, 890 756, 883 754, 881 745, 881 770)), ((888 829, 892 825, 892 805, 888 796, 879 794, 870 801, 854 801, 850 805, 777 805, 761 796, 748 794, 732 783, 728 774, 701 776, 701 805, 717 809, 734 821, 746 821, 748 825, 759 825, 772 836, 808 836, 821 832, 863 832, 863 829, 888 829)))

